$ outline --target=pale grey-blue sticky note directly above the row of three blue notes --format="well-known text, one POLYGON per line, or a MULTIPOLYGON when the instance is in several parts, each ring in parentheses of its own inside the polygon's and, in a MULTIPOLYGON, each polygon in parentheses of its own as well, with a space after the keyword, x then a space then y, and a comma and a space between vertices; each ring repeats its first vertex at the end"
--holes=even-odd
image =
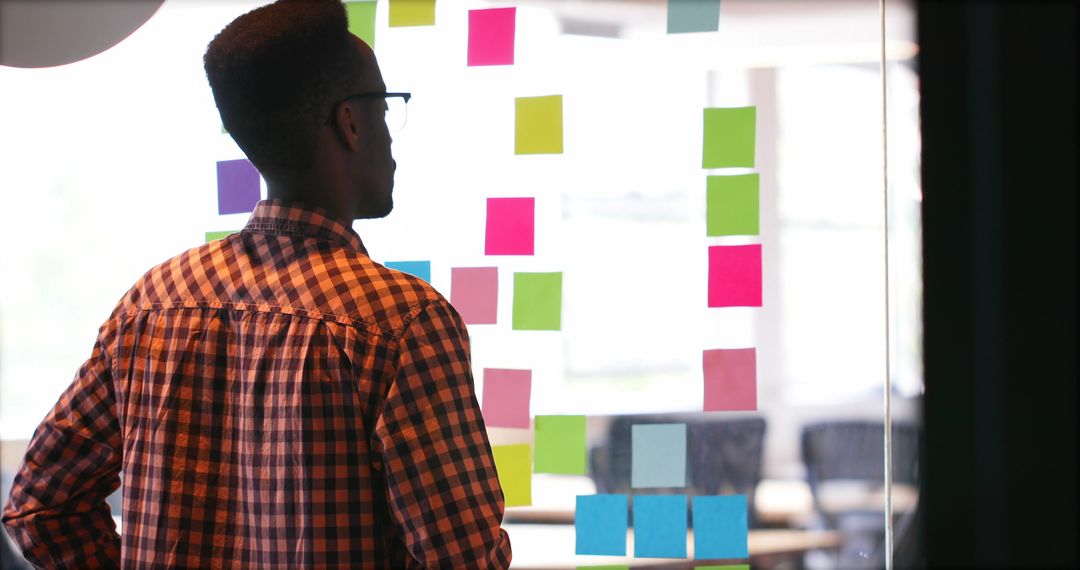
POLYGON ((630 459, 632 487, 686 487, 686 424, 633 425, 630 459))

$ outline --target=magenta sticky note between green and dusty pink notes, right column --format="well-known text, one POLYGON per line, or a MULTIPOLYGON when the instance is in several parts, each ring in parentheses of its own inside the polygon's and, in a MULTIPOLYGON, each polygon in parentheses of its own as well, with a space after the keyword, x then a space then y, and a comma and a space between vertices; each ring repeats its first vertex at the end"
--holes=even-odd
POLYGON ((761 244, 708 248, 708 307, 761 307, 761 244))

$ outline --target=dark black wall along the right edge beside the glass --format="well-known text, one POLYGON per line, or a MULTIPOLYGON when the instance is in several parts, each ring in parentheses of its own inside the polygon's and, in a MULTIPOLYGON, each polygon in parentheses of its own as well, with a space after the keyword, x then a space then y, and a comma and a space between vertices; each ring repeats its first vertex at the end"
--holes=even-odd
POLYGON ((923 545, 1077 566, 1074 2, 919 2, 923 545))

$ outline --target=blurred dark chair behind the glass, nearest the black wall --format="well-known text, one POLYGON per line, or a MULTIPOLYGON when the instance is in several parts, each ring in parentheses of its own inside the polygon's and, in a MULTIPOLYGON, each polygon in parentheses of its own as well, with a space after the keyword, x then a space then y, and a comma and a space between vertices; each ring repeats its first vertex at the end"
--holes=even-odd
MULTIPOLYGON (((892 425, 892 481, 918 488, 919 429, 914 424, 892 425)), ((802 462, 821 526, 838 530, 845 544, 837 552, 838 568, 882 568, 885 566, 883 505, 862 504, 838 508, 824 500, 827 487, 837 483, 862 484, 869 496, 883 492, 885 423, 880 421, 826 421, 808 424, 801 433, 802 462)), ((835 487, 834 487, 835 488, 835 487)), ((915 510, 894 513, 894 543, 904 534, 918 532, 913 524, 915 510)))

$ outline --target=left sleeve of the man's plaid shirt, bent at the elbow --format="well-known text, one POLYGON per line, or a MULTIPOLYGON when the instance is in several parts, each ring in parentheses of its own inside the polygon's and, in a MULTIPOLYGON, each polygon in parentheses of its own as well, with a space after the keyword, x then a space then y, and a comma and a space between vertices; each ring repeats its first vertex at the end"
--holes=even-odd
POLYGON ((113 318, 71 385, 38 425, 3 524, 38 568, 118 568, 120 535, 105 499, 120 486, 121 436, 109 371, 113 318))

